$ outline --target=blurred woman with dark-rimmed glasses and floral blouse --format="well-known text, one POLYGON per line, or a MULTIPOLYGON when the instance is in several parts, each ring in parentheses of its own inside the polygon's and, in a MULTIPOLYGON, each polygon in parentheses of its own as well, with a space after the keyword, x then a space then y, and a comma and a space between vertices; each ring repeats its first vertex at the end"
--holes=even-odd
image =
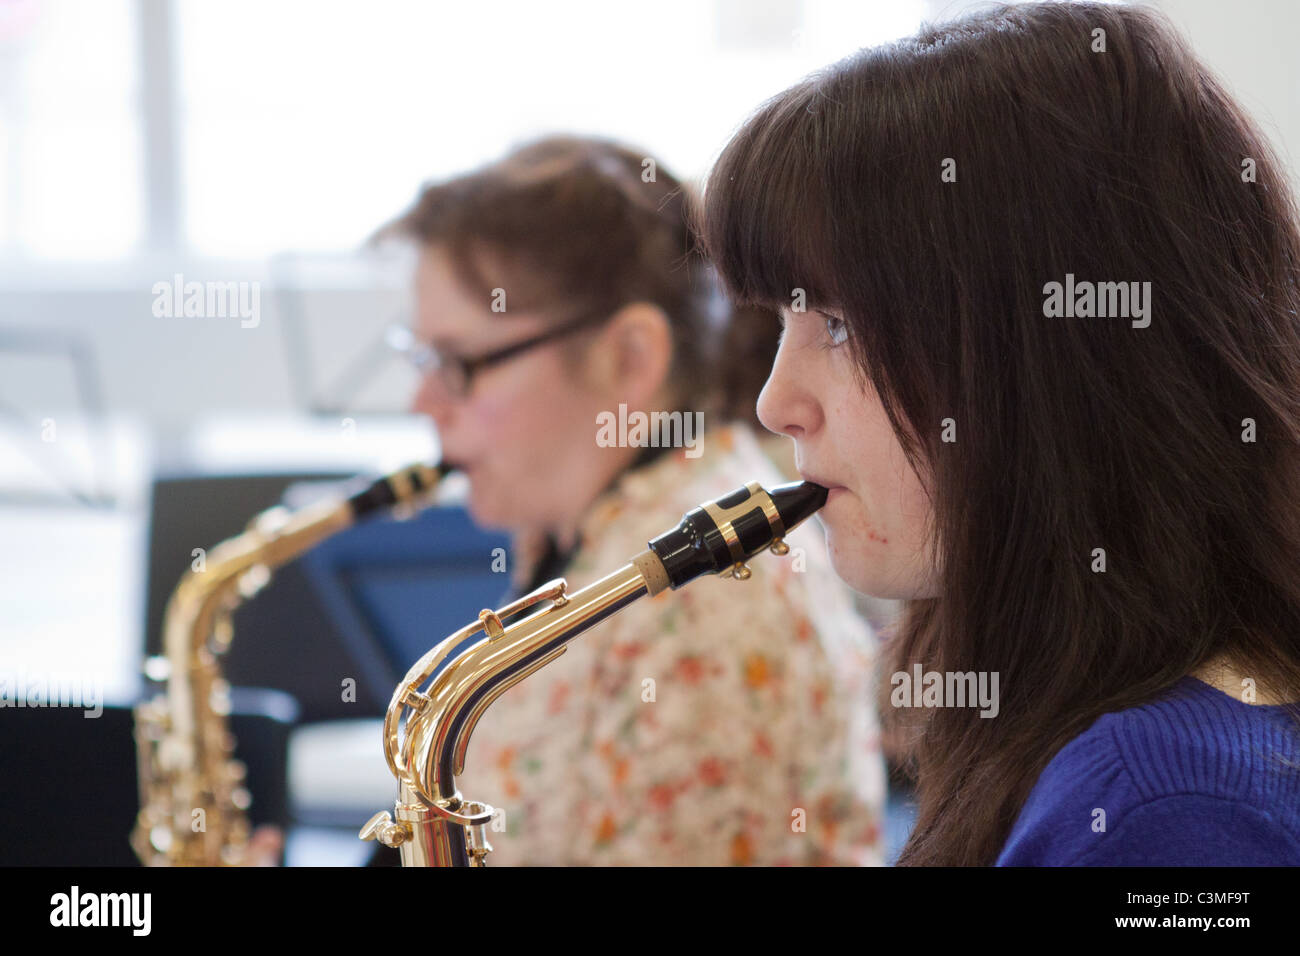
MULTIPOLYGON (((651 156, 554 137, 384 230, 420 250, 394 336, 415 410, 473 519, 511 532, 516 593, 582 587, 699 502, 785 480, 746 424, 775 321, 731 313, 690 208, 651 156)), ((459 784, 504 813, 494 864, 881 862, 872 636, 815 527, 789 541, 748 581, 628 607, 485 713, 459 784)))

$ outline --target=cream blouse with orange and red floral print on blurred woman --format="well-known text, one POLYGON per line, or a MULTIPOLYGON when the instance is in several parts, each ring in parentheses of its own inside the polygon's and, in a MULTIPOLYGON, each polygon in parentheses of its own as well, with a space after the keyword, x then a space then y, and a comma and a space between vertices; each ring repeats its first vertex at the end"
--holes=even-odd
MULTIPOLYGON (((785 479, 753 432, 625 472, 585 516, 569 591, 685 511, 785 479)), ((478 722, 460 792, 491 804, 490 865, 879 865, 875 639, 820 527, 753 576, 641 598, 576 637, 478 722)))

